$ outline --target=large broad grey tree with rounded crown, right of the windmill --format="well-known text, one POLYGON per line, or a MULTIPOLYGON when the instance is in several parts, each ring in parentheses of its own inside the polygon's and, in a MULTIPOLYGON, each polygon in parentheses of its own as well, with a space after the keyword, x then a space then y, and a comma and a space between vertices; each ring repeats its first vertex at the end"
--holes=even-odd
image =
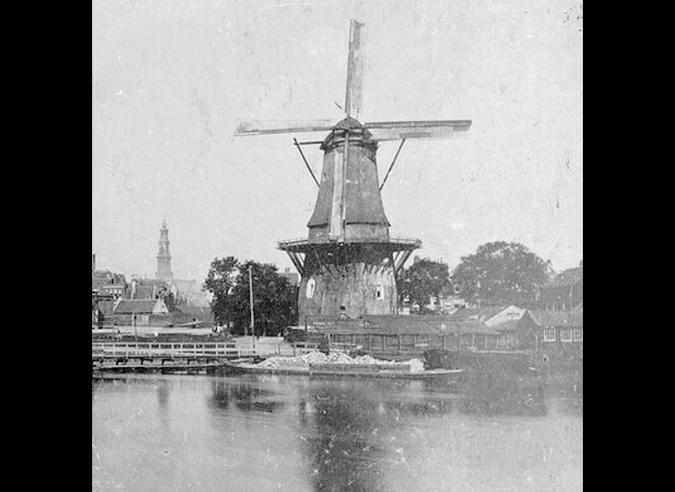
POLYGON ((470 304, 528 306, 549 270, 550 264, 519 242, 487 242, 461 259, 452 282, 470 304))

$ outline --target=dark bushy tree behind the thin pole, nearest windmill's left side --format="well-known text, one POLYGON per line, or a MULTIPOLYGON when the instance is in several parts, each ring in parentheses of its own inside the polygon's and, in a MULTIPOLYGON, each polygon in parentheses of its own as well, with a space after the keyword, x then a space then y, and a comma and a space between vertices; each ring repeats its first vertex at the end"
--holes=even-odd
POLYGON ((253 312, 256 335, 276 335, 297 321, 297 290, 271 264, 246 261, 238 266, 232 290, 234 331, 244 334, 250 326, 248 267, 252 267, 253 312))

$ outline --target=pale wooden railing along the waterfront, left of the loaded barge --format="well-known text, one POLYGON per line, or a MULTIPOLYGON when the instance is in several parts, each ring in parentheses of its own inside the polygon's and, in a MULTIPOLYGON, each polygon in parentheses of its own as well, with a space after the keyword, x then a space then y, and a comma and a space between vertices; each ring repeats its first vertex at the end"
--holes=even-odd
POLYGON ((254 349, 239 349, 233 343, 218 342, 139 342, 114 343, 92 342, 92 355, 98 356, 206 356, 246 357, 254 356, 254 349))

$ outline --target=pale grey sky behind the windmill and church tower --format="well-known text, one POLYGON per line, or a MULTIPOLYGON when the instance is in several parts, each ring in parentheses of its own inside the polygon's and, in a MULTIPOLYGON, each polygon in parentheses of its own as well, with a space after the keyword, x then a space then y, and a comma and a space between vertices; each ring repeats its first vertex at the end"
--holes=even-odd
MULTIPOLYGON (((214 257, 291 264, 317 188, 293 145, 238 119, 344 113, 349 21, 366 23, 359 119, 471 119, 406 141, 383 188, 396 237, 454 268, 522 242, 561 271, 583 259, 583 6, 569 0, 94 0, 92 252, 154 278, 162 221, 174 278, 214 257)), ((380 144, 380 181, 397 142, 380 144)), ((317 145, 304 147, 315 174, 317 145)))

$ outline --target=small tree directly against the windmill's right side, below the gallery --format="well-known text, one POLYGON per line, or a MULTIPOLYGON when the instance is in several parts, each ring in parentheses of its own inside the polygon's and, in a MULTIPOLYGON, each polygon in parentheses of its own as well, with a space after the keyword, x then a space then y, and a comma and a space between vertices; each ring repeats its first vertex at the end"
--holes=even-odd
POLYGON ((416 261, 410 268, 401 271, 397 280, 399 304, 409 297, 420 305, 420 309, 429 303, 430 297, 438 297, 441 290, 449 284, 448 266, 440 261, 428 258, 416 261))

